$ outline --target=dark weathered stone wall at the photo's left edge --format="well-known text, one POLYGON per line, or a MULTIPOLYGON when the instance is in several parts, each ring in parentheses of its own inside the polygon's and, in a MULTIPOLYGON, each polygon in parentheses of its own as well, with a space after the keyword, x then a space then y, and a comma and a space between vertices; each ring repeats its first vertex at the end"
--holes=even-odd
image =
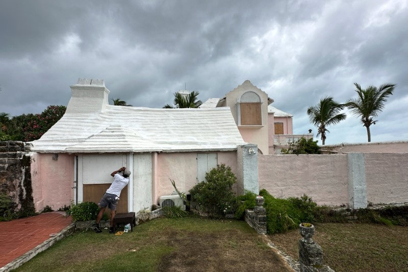
POLYGON ((29 151, 28 143, 0 142, 0 196, 3 202, 10 201, 8 210, 18 216, 34 213, 29 151))

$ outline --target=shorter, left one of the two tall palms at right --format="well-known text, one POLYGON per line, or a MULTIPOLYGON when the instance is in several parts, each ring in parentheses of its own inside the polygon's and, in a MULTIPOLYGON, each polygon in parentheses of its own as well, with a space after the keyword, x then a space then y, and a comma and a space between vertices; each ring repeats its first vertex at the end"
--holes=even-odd
POLYGON ((310 121, 318 128, 317 135, 321 134, 323 145, 326 141, 326 131, 329 132, 326 127, 346 119, 346 114, 339 113, 342 109, 344 105, 333 101, 331 96, 321 98, 319 104, 308 108, 310 121))

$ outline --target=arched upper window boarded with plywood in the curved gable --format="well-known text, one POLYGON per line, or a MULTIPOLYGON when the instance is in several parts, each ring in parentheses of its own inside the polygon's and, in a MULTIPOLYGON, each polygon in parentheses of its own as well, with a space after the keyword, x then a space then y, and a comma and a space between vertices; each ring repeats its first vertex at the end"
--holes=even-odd
POLYGON ((253 91, 241 95, 238 106, 239 125, 262 125, 261 98, 253 91))

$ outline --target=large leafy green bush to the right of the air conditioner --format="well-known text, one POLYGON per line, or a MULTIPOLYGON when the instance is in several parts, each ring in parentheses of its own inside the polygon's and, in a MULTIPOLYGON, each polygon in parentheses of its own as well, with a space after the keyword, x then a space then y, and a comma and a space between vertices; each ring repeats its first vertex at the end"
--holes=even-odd
POLYGON ((206 173, 206 180, 191 188, 191 201, 211 216, 222 217, 235 212, 237 200, 232 187, 237 178, 231 167, 223 163, 217 165, 206 173))

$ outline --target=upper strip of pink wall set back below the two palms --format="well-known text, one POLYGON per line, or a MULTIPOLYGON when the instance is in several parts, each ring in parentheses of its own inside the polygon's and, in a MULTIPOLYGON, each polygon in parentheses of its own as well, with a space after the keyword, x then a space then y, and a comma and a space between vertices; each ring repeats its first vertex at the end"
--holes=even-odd
POLYGON ((408 141, 343 143, 321 147, 339 153, 408 153, 408 141))

